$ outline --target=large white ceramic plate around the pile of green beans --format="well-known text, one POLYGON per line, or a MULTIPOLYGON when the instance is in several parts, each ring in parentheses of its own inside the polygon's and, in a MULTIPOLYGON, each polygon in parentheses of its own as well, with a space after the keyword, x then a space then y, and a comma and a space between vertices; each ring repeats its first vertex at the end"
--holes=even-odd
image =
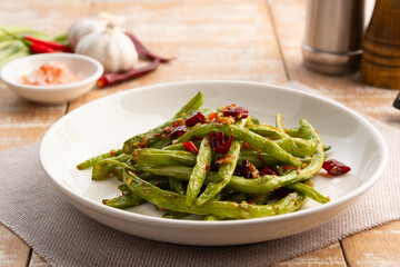
MULTIPOLYGON (((140 237, 188 245, 238 245, 266 241, 319 226, 356 204, 380 177, 388 151, 378 130, 346 107, 278 86, 237 81, 194 81, 149 86, 90 102, 56 122, 40 147, 40 160, 53 185, 82 212, 116 229, 140 237), (119 210, 101 204, 118 192, 117 179, 92 181, 90 170, 76 165, 120 148, 131 136, 158 126, 196 92, 204 93, 203 107, 236 102, 266 123, 282 112, 288 127, 307 118, 326 144, 331 158, 351 166, 346 176, 313 179, 331 202, 311 200, 302 210, 277 217, 199 221, 160 218, 152 205, 119 210)), ((340 227, 340 226, 339 226, 340 227)))

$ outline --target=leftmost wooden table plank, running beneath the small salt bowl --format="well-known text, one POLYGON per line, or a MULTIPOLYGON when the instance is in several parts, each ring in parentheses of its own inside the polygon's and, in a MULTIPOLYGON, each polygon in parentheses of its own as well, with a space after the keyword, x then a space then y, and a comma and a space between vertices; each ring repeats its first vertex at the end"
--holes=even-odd
MULTIPOLYGON (((3 1, 0 26, 21 24, 48 34, 67 31, 73 20, 89 13, 89 0, 3 1)), ((0 82, 0 150, 39 141, 66 113, 67 105, 42 106, 26 101, 0 82)), ((0 266, 27 265, 29 246, 0 225, 0 266)))

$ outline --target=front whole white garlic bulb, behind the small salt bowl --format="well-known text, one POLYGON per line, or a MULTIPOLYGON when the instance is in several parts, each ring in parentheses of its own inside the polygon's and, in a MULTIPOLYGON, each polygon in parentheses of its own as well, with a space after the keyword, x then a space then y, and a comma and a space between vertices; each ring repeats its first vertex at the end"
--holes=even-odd
POLYGON ((76 53, 100 61, 104 72, 119 72, 133 68, 139 60, 132 41, 113 23, 102 32, 84 36, 77 44, 76 53))

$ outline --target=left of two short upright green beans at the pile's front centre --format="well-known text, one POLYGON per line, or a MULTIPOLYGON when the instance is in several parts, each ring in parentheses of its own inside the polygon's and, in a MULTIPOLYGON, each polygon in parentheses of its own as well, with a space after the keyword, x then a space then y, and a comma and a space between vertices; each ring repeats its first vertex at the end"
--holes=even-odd
POLYGON ((199 155, 196 158, 196 166, 189 178, 186 195, 186 205, 188 207, 190 207, 194 202, 194 199, 198 197, 206 179, 207 171, 211 166, 211 160, 212 149, 210 144, 210 137, 206 136, 200 144, 199 155))

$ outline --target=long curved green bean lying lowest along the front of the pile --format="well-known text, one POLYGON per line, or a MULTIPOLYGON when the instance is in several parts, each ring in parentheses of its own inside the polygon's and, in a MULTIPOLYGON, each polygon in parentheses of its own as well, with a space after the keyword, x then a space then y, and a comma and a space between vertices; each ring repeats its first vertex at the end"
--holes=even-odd
POLYGON ((241 219, 268 217, 294 211, 300 207, 304 199, 303 195, 292 192, 276 205, 250 205, 244 202, 236 204, 230 201, 209 200, 203 205, 194 204, 191 207, 188 207, 186 206, 184 196, 154 187, 132 172, 123 172, 122 177, 124 184, 133 194, 138 194, 157 207, 199 215, 213 215, 241 219))

